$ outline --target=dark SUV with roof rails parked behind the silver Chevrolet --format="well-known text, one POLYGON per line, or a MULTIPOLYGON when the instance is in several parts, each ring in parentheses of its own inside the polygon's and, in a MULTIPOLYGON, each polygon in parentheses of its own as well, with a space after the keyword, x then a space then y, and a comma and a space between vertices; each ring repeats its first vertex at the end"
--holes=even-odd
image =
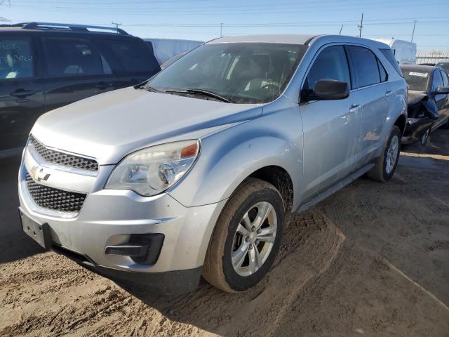
POLYGON ((159 72, 122 29, 30 22, 0 26, 0 157, 22 150, 44 112, 159 72))

